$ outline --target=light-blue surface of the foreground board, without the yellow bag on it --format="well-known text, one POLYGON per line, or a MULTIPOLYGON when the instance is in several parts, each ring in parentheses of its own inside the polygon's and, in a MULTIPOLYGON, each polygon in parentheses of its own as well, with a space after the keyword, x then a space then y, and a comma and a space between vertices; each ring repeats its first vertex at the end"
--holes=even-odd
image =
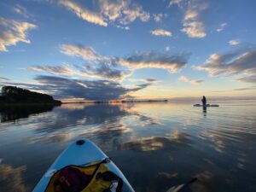
MULTIPOLYGON (((108 158, 106 154, 102 152, 96 144, 90 142, 90 140, 83 139, 71 143, 55 160, 49 170, 45 172, 44 176, 38 182, 33 192, 43 192, 48 187, 51 177, 55 175, 63 167, 73 165, 73 166, 86 166, 90 165, 92 162, 99 162, 102 160, 107 160, 105 166, 108 166, 108 170, 113 172, 123 181, 122 192, 132 192, 134 191, 131 184, 127 181, 123 173, 119 170, 112 160, 108 158)), ((109 190, 110 191, 110 190, 109 190)), ((112 190, 111 190, 112 191, 112 190)))

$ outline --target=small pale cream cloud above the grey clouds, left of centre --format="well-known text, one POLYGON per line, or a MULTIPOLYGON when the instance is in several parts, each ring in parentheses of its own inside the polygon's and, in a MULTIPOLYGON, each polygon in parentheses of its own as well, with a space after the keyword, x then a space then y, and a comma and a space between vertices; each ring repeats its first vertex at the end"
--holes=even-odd
POLYGON ((77 56, 83 58, 85 61, 95 61, 108 59, 102 55, 97 55, 96 51, 90 47, 74 44, 61 44, 61 53, 65 55, 77 56))

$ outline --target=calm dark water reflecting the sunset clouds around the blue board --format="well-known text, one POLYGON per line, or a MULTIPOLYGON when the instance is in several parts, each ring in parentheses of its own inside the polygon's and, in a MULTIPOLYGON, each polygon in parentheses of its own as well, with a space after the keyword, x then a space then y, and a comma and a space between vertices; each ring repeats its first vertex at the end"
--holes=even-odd
POLYGON ((256 191, 256 101, 66 104, 1 109, 0 191, 32 191, 61 151, 86 137, 136 191, 256 191), (215 102, 216 103, 216 102, 215 102))

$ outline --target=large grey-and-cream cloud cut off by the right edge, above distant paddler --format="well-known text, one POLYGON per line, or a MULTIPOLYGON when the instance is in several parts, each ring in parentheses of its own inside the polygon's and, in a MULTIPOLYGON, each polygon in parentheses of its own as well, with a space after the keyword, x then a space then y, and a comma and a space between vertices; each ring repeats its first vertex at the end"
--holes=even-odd
POLYGON ((238 81, 253 83, 256 75, 256 49, 236 49, 223 55, 212 54, 198 70, 207 71, 210 76, 240 75, 238 81))

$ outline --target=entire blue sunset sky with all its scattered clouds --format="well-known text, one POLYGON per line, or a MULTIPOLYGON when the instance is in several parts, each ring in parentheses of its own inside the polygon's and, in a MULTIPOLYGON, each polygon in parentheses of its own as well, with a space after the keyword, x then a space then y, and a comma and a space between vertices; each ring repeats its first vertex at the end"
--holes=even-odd
POLYGON ((256 98, 255 0, 3 0, 0 86, 60 99, 256 98))

